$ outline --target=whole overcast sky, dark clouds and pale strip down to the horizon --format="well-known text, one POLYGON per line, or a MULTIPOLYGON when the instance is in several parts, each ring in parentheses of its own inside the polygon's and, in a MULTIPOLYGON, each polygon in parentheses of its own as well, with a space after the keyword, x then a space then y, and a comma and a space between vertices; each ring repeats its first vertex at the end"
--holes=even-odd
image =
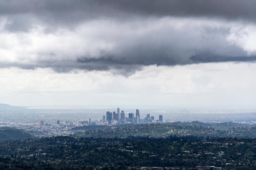
POLYGON ((255 6, 0 1, 0 103, 255 105, 255 6))

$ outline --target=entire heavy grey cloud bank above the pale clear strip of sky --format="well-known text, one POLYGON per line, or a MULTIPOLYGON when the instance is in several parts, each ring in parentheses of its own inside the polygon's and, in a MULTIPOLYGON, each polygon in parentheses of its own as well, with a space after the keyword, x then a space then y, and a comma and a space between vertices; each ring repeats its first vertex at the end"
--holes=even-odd
POLYGON ((1 1, 0 67, 109 70, 254 62, 256 1, 1 1), (21 3, 22 2, 22 3, 21 3))

